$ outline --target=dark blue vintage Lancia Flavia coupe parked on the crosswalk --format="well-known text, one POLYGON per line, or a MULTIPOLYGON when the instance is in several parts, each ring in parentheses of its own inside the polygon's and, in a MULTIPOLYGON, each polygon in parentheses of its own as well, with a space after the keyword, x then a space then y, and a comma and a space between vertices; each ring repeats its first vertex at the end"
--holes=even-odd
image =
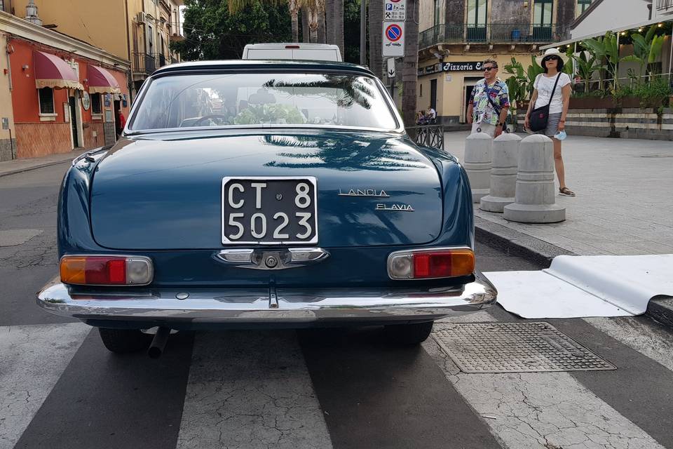
POLYGON ((38 304, 118 353, 256 327, 382 325, 417 344, 496 302, 472 208, 458 161, 416 145, 364 67, 170 65, 121 140, 66 173, 60 277, 38 304))

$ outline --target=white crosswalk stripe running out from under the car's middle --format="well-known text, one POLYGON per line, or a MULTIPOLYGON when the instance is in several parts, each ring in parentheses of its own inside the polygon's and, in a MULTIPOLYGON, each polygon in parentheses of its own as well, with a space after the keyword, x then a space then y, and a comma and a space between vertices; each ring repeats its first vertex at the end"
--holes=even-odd
POLYGON ((199 333, 177 448, 331 449, 293 331, 199 333))

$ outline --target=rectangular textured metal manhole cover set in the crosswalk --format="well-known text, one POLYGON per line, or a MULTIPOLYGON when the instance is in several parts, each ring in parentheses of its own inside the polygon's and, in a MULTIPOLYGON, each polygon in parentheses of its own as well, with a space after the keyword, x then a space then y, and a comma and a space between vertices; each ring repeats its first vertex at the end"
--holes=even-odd
POLYGON ((616 370, 550 323, 462 323, 433 332, 464 373, 616 370))

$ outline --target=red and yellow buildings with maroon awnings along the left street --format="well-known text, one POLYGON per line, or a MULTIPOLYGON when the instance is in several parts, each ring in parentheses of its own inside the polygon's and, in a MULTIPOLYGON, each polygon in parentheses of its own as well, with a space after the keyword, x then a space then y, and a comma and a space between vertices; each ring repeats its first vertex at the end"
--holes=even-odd
POLYGON ((116 111, 178 60, 182 3, 0 0, 0 161, 113 143, 116 111))

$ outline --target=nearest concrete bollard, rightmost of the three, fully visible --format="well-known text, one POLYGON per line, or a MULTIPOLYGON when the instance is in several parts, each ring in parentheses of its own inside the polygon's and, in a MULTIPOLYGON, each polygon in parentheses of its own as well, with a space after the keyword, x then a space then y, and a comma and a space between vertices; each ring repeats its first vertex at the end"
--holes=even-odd
POLYGON ((566 208, 556 203, 554 144, 545 135, 529 135, 519 145, 515 202, 504 208, 505 220, 519 223, 556 223, 566 208))

